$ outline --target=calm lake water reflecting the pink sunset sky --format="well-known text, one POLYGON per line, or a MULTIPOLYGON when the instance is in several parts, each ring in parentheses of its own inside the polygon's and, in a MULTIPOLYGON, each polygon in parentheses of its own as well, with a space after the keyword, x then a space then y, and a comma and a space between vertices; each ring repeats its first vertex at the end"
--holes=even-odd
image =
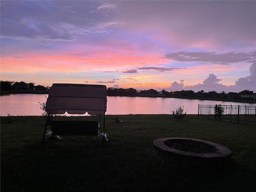
MULTIPOLYGON (((46 102, 44 94, 11 94, 0 96, 0 116, 40 116, 40 103, 46 102)), ((126 114, 171 114, 178 106, 184 106, 187 114, 197 114, 198 104, 253 105, 249 103, 222 102, 179 98, 107 97, 108 115, 126 114)))

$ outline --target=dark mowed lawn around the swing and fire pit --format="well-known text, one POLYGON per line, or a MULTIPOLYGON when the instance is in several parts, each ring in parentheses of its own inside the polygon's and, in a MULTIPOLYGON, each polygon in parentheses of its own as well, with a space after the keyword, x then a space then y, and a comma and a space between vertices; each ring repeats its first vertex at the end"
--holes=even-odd
POLYGON ((1 117, 1 192, 256 191, 256 126, 197 115, 180 122, 172 115, 120 115, 122 123, 115 123, 115 117, 106 116, 104 146, 47 142, 42 147, 46 118, 1 117), (174 136, 227 146, 233 152, 230 165, 206 171, 160 166, 153 140, 174 136))

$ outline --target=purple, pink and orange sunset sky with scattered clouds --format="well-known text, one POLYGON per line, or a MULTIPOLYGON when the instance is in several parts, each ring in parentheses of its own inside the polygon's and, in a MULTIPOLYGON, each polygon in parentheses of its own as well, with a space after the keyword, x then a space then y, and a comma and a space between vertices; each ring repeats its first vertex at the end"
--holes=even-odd
POLYGON ((256 92, 256 1, 0 1, 2 81, 256 92))

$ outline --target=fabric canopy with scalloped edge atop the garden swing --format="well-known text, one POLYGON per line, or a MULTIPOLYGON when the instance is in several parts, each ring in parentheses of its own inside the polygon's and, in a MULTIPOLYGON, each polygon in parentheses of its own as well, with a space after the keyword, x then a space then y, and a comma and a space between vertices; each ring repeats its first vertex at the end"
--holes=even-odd
POLYGON ((46 101, 47 114, 103 115, 107 110, 105 85, 52 84, 46 101))

